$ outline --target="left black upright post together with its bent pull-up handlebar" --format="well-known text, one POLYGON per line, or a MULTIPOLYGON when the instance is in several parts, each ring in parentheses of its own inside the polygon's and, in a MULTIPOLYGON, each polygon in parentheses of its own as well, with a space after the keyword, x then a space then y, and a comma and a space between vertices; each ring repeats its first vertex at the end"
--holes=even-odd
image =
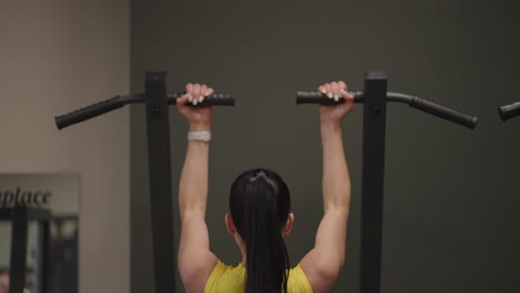
MULTIPOLYGON (((152 224, 154 292, 176 292, 177 262, 173 254, 173 213, 170 165, 170 125, 168 105, 183 92, 168 93, 164 71, 147 72, 144 93, 117 95, 112 99, 56 117, 58 129, 108 113, 126 104, 146 103, 148 168, 152 224)), ((233 93, 213 93, 202 103, 190 107, 234 105, 233 93)))

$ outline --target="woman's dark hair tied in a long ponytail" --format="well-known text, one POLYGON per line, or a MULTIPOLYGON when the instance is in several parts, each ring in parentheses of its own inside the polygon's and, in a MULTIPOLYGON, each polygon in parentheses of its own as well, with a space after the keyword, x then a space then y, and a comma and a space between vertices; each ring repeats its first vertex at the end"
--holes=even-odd
POLYGON ((246 293, 288 292, 289 253, 281 233, 291 208, 286 182, 270 170, 246 171, 231 185, 229 206, 246 242, 246 293))

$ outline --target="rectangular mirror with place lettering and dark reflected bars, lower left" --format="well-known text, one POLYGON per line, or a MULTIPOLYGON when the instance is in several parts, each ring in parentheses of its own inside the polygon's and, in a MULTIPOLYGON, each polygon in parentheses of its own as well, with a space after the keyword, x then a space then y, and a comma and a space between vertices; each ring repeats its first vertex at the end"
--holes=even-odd
POLYGON ((78 292, 79 175, 0 174, 0 293, 78 292))

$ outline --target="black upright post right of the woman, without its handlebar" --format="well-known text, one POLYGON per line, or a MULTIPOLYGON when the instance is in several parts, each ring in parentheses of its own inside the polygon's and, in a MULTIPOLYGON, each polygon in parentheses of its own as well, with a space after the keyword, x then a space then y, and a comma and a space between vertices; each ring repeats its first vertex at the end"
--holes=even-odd
POLYGON ((361 195, 361 293, 381 287, 387 74, 364 75, 363 166, 361 195))

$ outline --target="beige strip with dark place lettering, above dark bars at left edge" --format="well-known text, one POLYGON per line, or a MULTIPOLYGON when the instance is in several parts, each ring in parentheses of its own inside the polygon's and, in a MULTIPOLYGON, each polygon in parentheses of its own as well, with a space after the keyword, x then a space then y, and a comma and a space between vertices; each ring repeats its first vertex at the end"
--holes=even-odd
POLYGON ((0 173, 0 209, 26 205, 77 214, 79 188, 79 175, 72 173, 0 173))

